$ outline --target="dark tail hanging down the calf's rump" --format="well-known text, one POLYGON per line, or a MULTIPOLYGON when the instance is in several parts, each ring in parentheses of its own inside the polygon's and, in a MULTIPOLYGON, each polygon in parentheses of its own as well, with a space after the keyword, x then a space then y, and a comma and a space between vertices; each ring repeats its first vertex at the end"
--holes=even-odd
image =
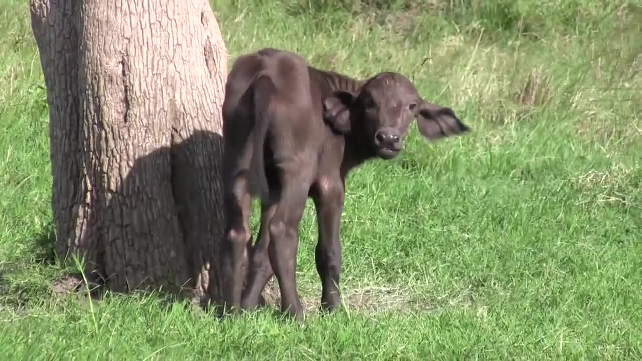
POLYGON ((270 196, 268 179, 265 175, 265 139, 272 123, 273 112, 272 95, 276 87, 269 76, 259 75, 252 82, 254 101, 254 150, 252 151, 252 165, 250 166, 250 189, 252 193, 267 202, 270 196))

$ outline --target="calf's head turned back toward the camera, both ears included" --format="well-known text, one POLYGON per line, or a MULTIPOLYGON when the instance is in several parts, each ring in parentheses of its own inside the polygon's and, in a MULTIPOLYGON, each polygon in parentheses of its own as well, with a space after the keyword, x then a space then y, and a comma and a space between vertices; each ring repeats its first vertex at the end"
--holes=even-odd
POLYGON ((423 100, 408 78, 391 72, 372 76, 357 92, 333 92, 324 99, 323 114, 336 132, 350 134, 383 159, 399 154, 413 119, 429 140, 470 130, 452 109, 423 100))

